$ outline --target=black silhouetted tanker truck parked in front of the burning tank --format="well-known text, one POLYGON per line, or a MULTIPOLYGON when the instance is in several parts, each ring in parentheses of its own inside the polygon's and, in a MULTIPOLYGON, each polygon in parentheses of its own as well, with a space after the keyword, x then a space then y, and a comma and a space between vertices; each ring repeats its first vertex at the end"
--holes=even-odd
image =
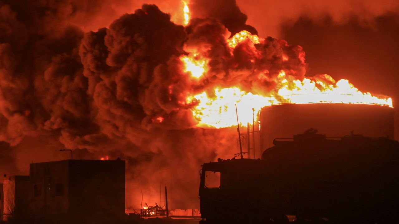
POLYGON ((398 223, 399 143, 307 131, 262 159, 203 164, 202 223, 398 223))

